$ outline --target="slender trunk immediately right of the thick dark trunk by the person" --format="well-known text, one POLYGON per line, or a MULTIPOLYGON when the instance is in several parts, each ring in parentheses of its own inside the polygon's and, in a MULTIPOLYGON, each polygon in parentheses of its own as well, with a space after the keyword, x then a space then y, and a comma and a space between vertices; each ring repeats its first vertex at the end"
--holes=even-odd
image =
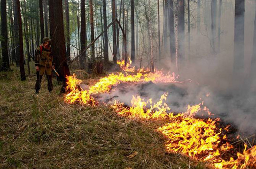
POLYGON ((65 0, 65 14, 66 14, 66 43, 67 43, 67 57, 70 61, 70 10, 69 10, 69 0, 65 0))

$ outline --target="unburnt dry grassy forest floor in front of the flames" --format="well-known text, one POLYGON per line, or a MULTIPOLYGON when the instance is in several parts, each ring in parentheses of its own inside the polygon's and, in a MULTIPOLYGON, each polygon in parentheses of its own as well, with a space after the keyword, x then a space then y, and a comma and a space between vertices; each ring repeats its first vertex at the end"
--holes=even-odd
MULTIPOLYGON (((0 168, 206 169, 165 149, 160 122, 118 116, 106 106, 64 102, 61 86, 35 94, 36 76, 18 68, 0 77, 0 168), (158 124, 157 124, 158 123, 158 124)), ((33 74, 33 73, 32 73, 33 74)))

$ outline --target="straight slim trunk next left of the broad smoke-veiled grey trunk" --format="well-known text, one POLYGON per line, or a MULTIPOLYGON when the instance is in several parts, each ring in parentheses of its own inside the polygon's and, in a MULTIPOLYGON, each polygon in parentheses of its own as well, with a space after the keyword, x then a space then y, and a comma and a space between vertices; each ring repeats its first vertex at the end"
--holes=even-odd
POLYGON ((174 33, 174 11, 173 1, 169 0, 169 30, 170 30, 170 53, 171 63, 175 60, 175 33, 174 33))

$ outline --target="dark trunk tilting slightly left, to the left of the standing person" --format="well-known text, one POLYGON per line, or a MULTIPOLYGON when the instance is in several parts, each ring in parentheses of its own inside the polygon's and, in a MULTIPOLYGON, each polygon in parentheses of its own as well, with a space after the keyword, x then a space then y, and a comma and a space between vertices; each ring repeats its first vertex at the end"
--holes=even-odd
MULTIPOLYGON (((21 74, 21 80, 25 81, 26 80, 26 75, 25 75, 25 69, 24 69, 24 54, 23 54, 23 33, 22 33, 22 20, 21 20, 21 9, 20 9, 20 1, 19 0, 14 0, 14 5, 15 5, 15 14, 14 19, 18 22, 18 42, 19 42, 19 66, 20 66, 20 74, 21 74)), ((17 53, 16 53, 17 54, 17 53)))

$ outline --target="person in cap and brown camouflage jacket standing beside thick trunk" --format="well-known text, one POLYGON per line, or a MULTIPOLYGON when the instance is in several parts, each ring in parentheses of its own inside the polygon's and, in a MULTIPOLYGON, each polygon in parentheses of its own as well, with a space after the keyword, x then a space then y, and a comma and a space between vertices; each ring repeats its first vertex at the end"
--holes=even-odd
POLYGON ((36 49, 35 66, 37 73, 37 81, 35 85, 36 93, 39 93, 43 75, 46 73, 48 81, 48 90, 53 90, 52 70, 54 69, 53 55, 51 54, 51 40, 48 37, 43 38, 43 44, 36 49))

